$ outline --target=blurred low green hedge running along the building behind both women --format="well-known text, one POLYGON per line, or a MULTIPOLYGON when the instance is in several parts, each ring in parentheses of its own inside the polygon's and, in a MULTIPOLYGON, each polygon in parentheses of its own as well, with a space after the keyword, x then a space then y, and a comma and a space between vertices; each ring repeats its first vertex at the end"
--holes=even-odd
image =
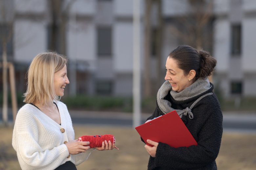
MULTIPOLYGON (((256 112, 256 97, 241 97, 225 99, 220 91, 215 91, 223 111, 251 111, 256 112)), ((23 94, 17 93, 18 107, 24 105, 23 94)), ((74 110, 98 110, 98 111, 122 111, 132 112, 133 102, 131 97, 114 96, 88 96, 77 95, 75 97, 64 96, 61 98, 69 109, 74 110)), ((3 105, 3 93, 0 92, 0 107, 3 105)), ((8 106, 11 107, 11 94, 8 94, 8 106)), ((146 98, 141 101, 141 110, 153 113, 156 108, 156 98, 146 98)))

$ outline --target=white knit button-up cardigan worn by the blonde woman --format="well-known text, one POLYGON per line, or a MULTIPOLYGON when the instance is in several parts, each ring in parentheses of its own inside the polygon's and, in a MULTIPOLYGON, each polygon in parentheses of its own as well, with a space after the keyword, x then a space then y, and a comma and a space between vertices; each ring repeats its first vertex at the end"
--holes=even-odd
POLYGON ((12 146, 17 152, 21 169, 51 170, 66 161, 79 165, 87 160, 94 149, 70 155, 65 141, 75 139, 75 133, 67 106, 58 106, 61 125, 31 104, 25 104, 15 120, 12 146), (69 156, 70 155, 70 156, 69 156))

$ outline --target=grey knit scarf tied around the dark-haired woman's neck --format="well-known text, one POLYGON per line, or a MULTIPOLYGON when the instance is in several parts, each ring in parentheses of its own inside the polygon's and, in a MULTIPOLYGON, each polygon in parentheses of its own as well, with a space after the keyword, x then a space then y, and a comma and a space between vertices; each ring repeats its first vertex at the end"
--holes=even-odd
MULTIPOLYGON (((171 96, 177 100, 177 101, 183 101, 192 97, 195 97, 199 94, 202 94, 209 90, 211 88, 210 82, 208 78, 203 79, 203 78, 198 78, 193 84, 182 90, 181 92, 176 92, 172 90, 172 86, 169 83, 169 81, 165 81, 163 85, 160 87, 158 93, 157 93, 157 103, 160 108, 160 110, 166 114, 169 113, 175 109, 172 108, 171 102, 168 100, 165 100, 164 97, 168 94, 170 91, 171 96)), ((193 113, 191 112, 192 108, 195 106, 197 102, 199 102, 203 97, 207 95, 212 95, 213 93, 206 93, 199 97, 189 108, 187 107, 186 109, 183 110, 176 110, 177 113, 179 114, 180 118, 182 115, 187 115, 189 116, 190 119, 193 119, 193 113)))

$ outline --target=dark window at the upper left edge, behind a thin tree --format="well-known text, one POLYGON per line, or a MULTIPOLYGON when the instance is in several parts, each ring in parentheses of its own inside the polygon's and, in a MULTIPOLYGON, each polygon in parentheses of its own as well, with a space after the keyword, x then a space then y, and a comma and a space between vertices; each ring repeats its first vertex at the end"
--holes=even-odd
POLYGON ((6 42, 7 55, 12 56, 12 26, 0 23, 0 56, 3 53, 3 42, 6 42))

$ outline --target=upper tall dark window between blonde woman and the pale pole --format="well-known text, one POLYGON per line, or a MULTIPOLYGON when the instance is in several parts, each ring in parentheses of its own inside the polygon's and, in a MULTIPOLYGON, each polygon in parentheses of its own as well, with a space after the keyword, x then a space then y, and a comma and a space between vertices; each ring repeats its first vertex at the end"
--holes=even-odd
POLYGON ((97 29, 98 56, 112 55, 112 29, 111 27, 98 27, 97 29))

